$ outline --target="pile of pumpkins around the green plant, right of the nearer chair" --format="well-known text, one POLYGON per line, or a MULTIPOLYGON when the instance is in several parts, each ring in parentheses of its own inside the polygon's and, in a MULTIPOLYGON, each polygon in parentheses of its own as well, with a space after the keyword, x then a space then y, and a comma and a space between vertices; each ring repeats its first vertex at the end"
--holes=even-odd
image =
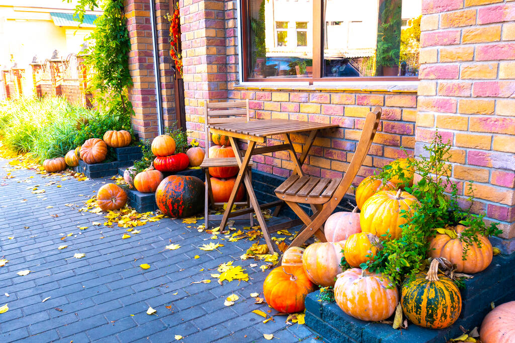
MULTIPOLYGON (((407 168, 406 159, 392 162, 393 167, 407 168)), ((408 171, 413 185, 413 170, 408 171)), ((405 172, 406 175, 406 172, 405 172)), ((402 189, 400 180, 369 176, 356 189, 357 207, 352 212, 332 214, 324 225, 327 242, 313 243, 305 249, 290 247, 283 255, 282 265, 273 269, 263 288, 267 302, 277 311, 298 312, 304 309, 305 296, 316 285, 334 286, 336 303, 346 314, 366 321, 381 321, 392 316, 400 303, 405 316, 426 328, 447 328, 461 312, 461 295, 455 283, 438 273, 438 263, 445 258, 456 264, 457 273, 478 273, 492 261, 492 245, 486 237, 478 237, 481 247, 471 244, 467 259, 462 260, 464 244, 457 239, 465 229, 458 225, 452 230, 456 236, 437 234, 430 240, 428 257, 433 258, 429 271, 414 280, 406 279, 401 293, 387 276, 362 270, 359 266, 374 259, 387 240, 401 237, 400 225, 407 219, 401 210, 413 212, 411 205, 417 198, 402 189), (361 213, 357 213, 357 208, 361 213), (342 270, 345 257, 351 268, 342 270), (436 295, 436 296, 435 296, 436 295)), ((408 214, 408 217, 410 215, 408 214)))

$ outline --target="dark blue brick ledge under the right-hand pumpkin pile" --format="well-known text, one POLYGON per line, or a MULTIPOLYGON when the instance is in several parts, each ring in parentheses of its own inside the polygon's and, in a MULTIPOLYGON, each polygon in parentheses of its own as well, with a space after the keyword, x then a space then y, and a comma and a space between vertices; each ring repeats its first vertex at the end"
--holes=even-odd
POLYGON ((346 315, 336 303, 318 301, 319 291, 310 293, 305 300, 306 325, 328 342, 399 343, 443 342, 460 336, 466 330, 480 327, 483 318, 496 305, 515 300, 515 254, 494 256, 492 264, 483 272, 466 280, 461 290, 461 314, 449 328, 426 329, 409 324, 406 330, 393 330, 388 324, 367 322, 346 315))

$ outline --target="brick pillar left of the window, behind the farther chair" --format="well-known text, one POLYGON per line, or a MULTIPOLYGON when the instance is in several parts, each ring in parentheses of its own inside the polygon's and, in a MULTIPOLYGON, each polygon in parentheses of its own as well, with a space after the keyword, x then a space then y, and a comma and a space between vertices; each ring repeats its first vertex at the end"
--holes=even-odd
POLYGON ((186 127, 203 133, 204 101, 227 100, 226 13, 224 0, 180 0, 186 127))

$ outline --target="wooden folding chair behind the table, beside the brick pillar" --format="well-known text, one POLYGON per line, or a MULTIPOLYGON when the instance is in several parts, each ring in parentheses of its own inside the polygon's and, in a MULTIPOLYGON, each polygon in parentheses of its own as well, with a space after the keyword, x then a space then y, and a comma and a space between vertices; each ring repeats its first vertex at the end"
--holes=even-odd
MULTIPOLYGON (((213 200, 213 193, 211 192, 211 175, 209 168, 213 167, 238 167, 236 157, 229 158, 210 158, 209 148, 211 145, 211 135, 209 133, 209 124, 219 124, 228 122, 245 122, 249 121, 249 100, 231 101, 231 102, 205 102, 204 104, 204 127, 205 127, 205 157, 200 165, 205 172, 205 203, 204 203, 204 218, 205 228, 208 228, 209 220, 221 220, 221 214, 209 214, 209 205, 214 208, 221 207, 225 203, 215 203, 213 200)), ((252 160, 249 162, 249 167, 252 167, 252 160)), ((250 173, 250 168, 249 168, 250 173)), ((249 175, 250 176, 250 175, 249 175)), ((236 205, 250 205, 247 195, 247 202, 238 202, 236 205)), ((235 217, 237 218, 237 217, 235 217)), ((253 213, 250 213, 250 226, 253 226, 253 213)))

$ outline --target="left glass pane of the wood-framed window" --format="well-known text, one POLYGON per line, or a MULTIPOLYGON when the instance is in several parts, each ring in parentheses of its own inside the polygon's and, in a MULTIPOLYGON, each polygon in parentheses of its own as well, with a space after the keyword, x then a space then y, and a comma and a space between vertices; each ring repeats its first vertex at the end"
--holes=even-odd
POLYGON ((254 78, 313 74, 312 0, 248 0, 248 70, 254 78))

